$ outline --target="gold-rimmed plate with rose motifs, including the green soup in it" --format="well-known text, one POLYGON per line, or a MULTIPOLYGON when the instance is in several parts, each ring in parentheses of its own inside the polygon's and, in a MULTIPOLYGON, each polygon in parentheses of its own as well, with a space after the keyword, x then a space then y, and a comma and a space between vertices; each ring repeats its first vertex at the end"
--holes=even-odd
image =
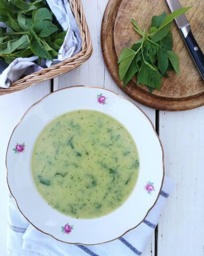
POLYGON ((60 89, 28 108, 10 137, 6 167, 10 193, 28 222, 71 244, 106 243, 137 227, 164 178, 162 143, 146 114, 91 86, 60 89))

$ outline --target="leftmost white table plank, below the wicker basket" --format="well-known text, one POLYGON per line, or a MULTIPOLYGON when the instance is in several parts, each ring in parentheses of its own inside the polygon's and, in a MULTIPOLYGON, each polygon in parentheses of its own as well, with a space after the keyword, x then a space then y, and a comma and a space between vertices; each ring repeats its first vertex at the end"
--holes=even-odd
POLYGON ((6 256, 7 208, 9 191, 6 183, 5 153, 13 128, 35 101, 51 91, 50 80, 17 93, 0 96, 0 255, 6 256))

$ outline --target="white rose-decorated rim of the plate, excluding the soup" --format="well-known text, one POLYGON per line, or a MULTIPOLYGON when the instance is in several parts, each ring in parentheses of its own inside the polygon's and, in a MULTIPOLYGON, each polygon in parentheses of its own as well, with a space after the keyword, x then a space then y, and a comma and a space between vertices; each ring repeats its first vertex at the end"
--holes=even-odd
POLYGON ((138 226, 156 203, 164 177, 162 145, 149 118, 131 101, 100 87, 68 87, 30 107, 12 133, 6 166, 10 192, 26 219, 66 243, 105 243, 138 226), (31 173, 33 146, 45 125, 68 111, 84 109, 121 122, 133 136, 140 162, 130 197, 112 213, 95 219, 75 219, 53 209, 38 193, 31 173))

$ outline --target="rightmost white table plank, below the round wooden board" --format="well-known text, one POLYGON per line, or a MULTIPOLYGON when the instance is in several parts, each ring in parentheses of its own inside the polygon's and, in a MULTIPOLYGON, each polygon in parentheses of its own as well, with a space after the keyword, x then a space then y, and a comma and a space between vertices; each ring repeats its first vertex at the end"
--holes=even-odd
POLYGON ((204 107, 160 112, 166 175, 176 182, 159 222, 158 256, 204 255, 204 107))

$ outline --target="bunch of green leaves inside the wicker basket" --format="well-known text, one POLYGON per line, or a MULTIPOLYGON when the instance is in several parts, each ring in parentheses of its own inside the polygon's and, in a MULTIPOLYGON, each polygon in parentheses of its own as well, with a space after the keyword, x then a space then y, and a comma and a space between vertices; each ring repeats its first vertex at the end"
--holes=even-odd
POLYGON ((58 55, 66 31, 59 26, 44 0, 0 0, 0 59, 10 64, 36 55, 52 60, 58 55))

